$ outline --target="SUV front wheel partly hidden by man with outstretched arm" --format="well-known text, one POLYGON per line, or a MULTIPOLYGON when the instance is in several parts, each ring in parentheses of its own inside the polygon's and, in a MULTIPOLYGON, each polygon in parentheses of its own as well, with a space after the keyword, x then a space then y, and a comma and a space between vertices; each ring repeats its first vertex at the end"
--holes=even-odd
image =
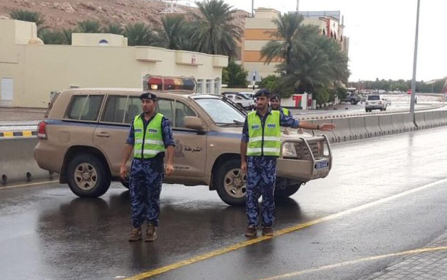
POLYGON ((220 199, 232 206, 245 205, 247 175, 242 175, 240 159, 231 159, 216 171, 216 189, 220 199))

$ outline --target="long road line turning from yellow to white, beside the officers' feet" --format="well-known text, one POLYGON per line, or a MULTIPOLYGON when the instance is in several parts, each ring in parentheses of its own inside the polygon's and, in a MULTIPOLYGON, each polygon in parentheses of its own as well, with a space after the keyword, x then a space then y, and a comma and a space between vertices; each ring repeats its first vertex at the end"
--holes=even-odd
MULTIPOLYGON (((435 186, 437 184, 441 184, 441 183, 444 183, 444 182, 447 182, 447 178, 439 180, 439 181, 436 181, 436 182, 433 182, 433 183, 430 183, 430 184, 419 186, 419 187, 416 187, 416 188, 413 188, 413 189, 410 189, 410 190, 406 190, 406 191, 403 191, 403 192, 400 192, 400 193, 396 193, 396 195, 392 195, 392 196, 387 197, 387 198, 382 198, 382 199, 379 199, 379 200, 376 200, 376 201, 373 201, 373 202, 370 202, 370 203, 367 203, 367 204, 363 204, 363 205, 360 205, 360 206, 357 206, 357 207, 354 207, 354 208, 351 208, 351 209, 347 209, 347 210, 344 210, 344 211, 341 211, 341 212, 338 212, 338 213, 335 213, 335 214, 331 214, 329 216, 326 216, 326 217, 323 217, 323 218, 319 218, 319 219, 316 219, 316 220, 313 220, 313 221, 310 221, 310 222, 297 224, 297 225, 289 227, 289 228, 277 230, 277 231, 275 231, 273 233, 273 237, 280 236, 280 235, 283 235, 283 234, 286 234, 286 233, 290 233, 290 232, 293 232, 293 231, 297 231, 297 230, 300 230, 300 229, 303 229, 303 228, 306 228, 306 227, 310 227, 310 226, 319 224, 319 223, 324 222, 324 221, 334 220, 334 219, 340 218, 342 216, 346 216, 347 214, 351 214, 353 212, 357 212, 357 211, 360 211, 360 210, 363 210, 363 209, 366 209, 366 208, 369 208, 369 207, 372 207, 372 206, 375 206, 375 205, 378 205, 378 204, 381 204, 381 203, 385 203, 385 202, 388 202, 390 200, 394 200, 394 199, 397 199, 397 198, 400 198, 400 197, 403 197, 403 196, 406 196, 406 195, 410 195, 411 193, 414 193, 414 192, 417 192, 417 191, 420 191, 420 190, 423 190, 423 189, 426 189, 426 188, 430 188, 430 187, 433 187, 433 186, 435 186)), ((178 263, 174 263, 174 264, 171 264, 171 265, 160 267, 160 268, 157 268, 157 269, 154 269, 154 270, 150 270, 148 272, 143 272, 143 273, 134 275, 132 277, 129 277, 127 279, 134 280, 134 279, 149 278, 149 277, 161 274, 161 273, 168 272, 170 270, 174 270, 174 269, 177 269, 177 268, 180 268, 180 267, 183 267, 183 266, 187 266, 187 265, 190 265, 190 264, 193 264, 193 263, 197 263, 197 262, 200 262, 200 261, 203 261, 203 260, 210 259, 211 257, 217 256, 217 255, 220 255, 220 254, 228 253, 228 252, 231 252, 231 251, 243 248, 243 247, 247 247, 247 246, 259 243, 261 241, 269 240, 269 239, 271 239, 273 237, 261 236, 259 238, 255 238, 255 239, 239 242, 239 243, 236 243, 234 245, 231 245, 231 246, 219 249, 219 250, 215 250, 215 251, 211 251, 211 252, 208 252, 208 253, 205 253, 205 254, 202 254, 202 255, 197 255, 197 256, 191 257, 190 259, 187 259, 185 261, 180 261, 178 263)))

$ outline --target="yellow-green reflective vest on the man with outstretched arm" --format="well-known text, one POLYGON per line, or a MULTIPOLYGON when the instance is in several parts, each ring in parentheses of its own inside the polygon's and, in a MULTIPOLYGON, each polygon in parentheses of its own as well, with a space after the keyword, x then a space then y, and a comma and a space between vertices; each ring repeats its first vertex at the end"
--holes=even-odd
POLYGON ((247 115, 249 142, 247 156, 279 156, 281 147, 280 112, 271 111, 262 127, 256 111, 247 115))

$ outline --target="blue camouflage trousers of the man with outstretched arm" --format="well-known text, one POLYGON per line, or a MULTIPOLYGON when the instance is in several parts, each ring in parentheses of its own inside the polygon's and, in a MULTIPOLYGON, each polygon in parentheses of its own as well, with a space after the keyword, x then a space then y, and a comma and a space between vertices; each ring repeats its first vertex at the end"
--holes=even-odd
POLYGON ((262 195, 262 225, 273 226, 275 219, 276 157, 247 157, 246 212, 248 224, 259 224, 259 197, 262 195))

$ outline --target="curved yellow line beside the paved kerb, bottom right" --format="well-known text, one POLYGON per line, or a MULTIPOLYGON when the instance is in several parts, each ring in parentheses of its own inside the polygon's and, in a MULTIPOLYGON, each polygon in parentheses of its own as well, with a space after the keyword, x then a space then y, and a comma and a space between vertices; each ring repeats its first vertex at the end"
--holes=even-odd
POLYGON ((414 250, 408 250, 408 251, 401 251, 401 252, 397 252, 397 253, 390 253, 390 254, 384 254, 384 255, 363 257, 362 259, 342 262, 342 263, 338 263, 338 264, 320 266, 320 267, 317 267, 317 268, 304 269, 304 270, 295 271, 295 272, 291 272, 291 273, 285 273, 285 274, 272 276, 272 277, 268 277, 268 278, 262 278, 260 280, 283 279, 283 278, 289 278, 289 277, 302 275, 302 274, 305 274, 305 273, 317 272, 317 271, 337 268, 337 267, 341 267, 341 266, 354 265, 354 264, 368 262, 368 261, 385 259, 387 257, 392 257, 392 256, 409 255, 409 254, 433 252, 433 251, 440 251, 440 250, 447 250, 447 246, 431 247, 431 248, 420 248, 420 249, 414 249, 414 250))

